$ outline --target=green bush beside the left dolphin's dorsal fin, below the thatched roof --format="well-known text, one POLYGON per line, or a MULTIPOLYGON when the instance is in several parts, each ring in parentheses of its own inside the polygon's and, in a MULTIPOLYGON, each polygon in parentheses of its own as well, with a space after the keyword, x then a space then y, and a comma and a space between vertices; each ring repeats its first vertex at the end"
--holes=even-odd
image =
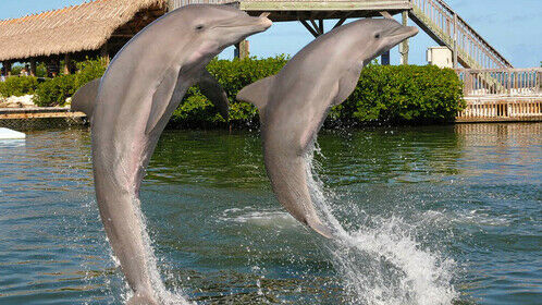
POLYGON ((66 98, 71 97, 86 83, 101 77, 106 72, 106 62, 101 59, 78 62, 77 73, 60 75, 49 78, 38 85, 34 102, 40 107, 63 106, 66 98))

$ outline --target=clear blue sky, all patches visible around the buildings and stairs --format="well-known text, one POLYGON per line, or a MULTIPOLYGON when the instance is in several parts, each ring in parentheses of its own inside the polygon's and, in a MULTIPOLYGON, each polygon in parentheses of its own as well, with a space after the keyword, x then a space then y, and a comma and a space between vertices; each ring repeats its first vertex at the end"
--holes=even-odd
MULTIPOLYGON (((445 0, 463 19, 516 68, 539 66, 542 61, 542 0, 445 0)), ((19 17, 45 10, 83 3, 83 0, 0 0, 0 19, 19 17)), ((330 28, 334 21, 327 22, 330 28)), ((414 25, 414 24, 412 24, 414 25)), ((297 22, 275 23, 250 37, 250 53, 269 57, 295 54, 312 40, 297 22)), ((426 49, 436 44, 423 32, 411 39, 410 63, 426 64, 426 49)), ((399 61, 392 50, 392 64, 399 61)), ((222 58, 233 57, 229 48, 222 58)))

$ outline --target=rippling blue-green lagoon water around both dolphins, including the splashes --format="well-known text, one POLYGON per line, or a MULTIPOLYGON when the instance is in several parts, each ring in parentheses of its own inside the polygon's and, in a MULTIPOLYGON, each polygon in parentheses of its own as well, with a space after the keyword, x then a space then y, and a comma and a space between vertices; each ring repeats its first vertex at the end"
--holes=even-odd
MULTIPOLYGON (((310 185, 341 229, 335 242, 279 207, 257 134, 164 133, 141 203, 165 286, 197 304, 539 304, 541 123, 328 132, 318 143, 310 185)), ((86 130, 0 142, 0 304, 128 295, 89 150, 86 130)))

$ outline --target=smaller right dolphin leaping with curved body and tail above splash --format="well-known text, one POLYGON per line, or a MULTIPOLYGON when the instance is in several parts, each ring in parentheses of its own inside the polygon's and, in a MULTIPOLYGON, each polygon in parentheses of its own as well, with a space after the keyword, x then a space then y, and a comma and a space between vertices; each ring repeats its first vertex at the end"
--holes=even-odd
POLYGON ((361 69, 417 33, 394 20, 352 22, 319 36, 276 75, 237 94, 237 100, 259 110, 266 169, 278 200, 325 237, 334 232, 322 223, 311 202, 306 155, 331 107, 356 88, 361 69))

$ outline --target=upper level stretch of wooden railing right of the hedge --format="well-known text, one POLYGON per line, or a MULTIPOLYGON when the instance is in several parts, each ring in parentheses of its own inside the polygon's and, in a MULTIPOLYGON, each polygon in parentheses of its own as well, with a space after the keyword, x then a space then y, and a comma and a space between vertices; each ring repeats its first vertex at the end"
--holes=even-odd
POLYGON ((542 94, 542 69, 457 69, 468 96, 537 96, 542 94))

